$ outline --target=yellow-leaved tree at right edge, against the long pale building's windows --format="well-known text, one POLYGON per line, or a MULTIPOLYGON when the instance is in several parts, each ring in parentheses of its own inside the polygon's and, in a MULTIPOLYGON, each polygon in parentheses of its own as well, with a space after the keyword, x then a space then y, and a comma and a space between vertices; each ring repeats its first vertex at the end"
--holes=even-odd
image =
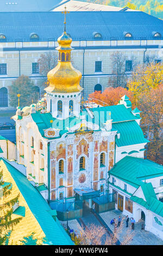
POLYGON ((141 93, 148 93, 151 89, 157 88, 162 80, 163 64, 152 62, 136 66, 127 86, 139 100, 141 93))

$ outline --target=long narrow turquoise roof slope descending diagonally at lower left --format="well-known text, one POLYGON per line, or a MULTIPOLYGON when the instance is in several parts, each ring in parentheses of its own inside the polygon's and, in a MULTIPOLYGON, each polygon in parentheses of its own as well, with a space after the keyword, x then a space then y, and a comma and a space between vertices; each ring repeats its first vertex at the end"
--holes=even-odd
POLYGON ((26 176, 18 172, 16 168, 11 166, 11 164, 4 159, 1 158, 0 160, 3 160, 5 166, 7 166, 18 189, 26 200, 29 209, 33 212, 33 215, 45 233, 48 242, 53 245, 73 245, 73 242, 66 231, 62 229, 61 225, 56 223, 51 214, 49 214, 48 211, 51 211, 52 209, 47 204, 46 200, 36 188, 30 184, 26 176))

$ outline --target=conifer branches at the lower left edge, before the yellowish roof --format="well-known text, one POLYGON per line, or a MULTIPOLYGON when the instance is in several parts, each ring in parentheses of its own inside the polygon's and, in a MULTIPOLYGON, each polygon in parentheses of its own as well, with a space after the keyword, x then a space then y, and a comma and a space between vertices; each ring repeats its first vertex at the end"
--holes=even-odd
POLYGON ((0 245, 7 243, 8 237, 12 231, 12 228, 22 220, 21 217, 11 218, 14 206, 18 202, 19 194, 10 200, 8 200, 11 194, 11 184, 3 181, 3 172, 0 172, 0 245))

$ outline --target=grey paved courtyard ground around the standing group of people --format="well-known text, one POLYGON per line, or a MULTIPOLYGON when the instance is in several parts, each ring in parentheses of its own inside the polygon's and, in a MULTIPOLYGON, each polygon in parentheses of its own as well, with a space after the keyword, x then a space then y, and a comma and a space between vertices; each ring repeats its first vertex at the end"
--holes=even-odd
MULTIPOLYGON (((125 221, 126 216, 115 210, 103 212, 102 214, 100 214, 104 222, 111 230, 114 229, 114 225, 111 225, 110 221, 112 220, 112 218, 115 218, 117 220, 119 215, 121 216, 121 219, 124 218, 121 234, 118 235, 118 239, 120 240, 120 242, 122 242, 124 237, 126 236, 128 229, 126 227, 125 221)), ((131 230, 131 222, 129 221, 129 229, 131 230, 130 232, 131 234, 134 232, 133 240, 130 242, 130 245, 163 245, 163 241, 158 236, 154 235, 149 231, 141 230, 141 224, 142 221, 135 223, 135 229, 131 230)))

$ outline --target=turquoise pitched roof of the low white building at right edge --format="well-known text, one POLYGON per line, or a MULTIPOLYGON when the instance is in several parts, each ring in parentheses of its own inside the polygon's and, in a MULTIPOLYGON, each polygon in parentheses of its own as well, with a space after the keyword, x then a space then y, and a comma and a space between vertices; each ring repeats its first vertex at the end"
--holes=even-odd
POLYGON ((126 156, 117 162, 109 173, 137 187, 143 184, 142 180, 163 175, 163 166, 147 159, 126 156))

